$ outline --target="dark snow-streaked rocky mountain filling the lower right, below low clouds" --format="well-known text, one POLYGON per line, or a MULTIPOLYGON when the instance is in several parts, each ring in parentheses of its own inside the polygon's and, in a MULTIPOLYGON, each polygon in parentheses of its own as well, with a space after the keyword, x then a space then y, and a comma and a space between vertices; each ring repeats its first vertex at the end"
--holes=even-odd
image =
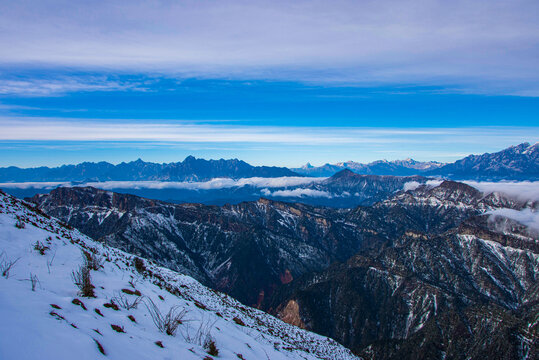
POLYGON ((539 206, 447 181, 356 209, 364 222, 384 211, 373 227, 396 236, 281 287, 268 307, 371 359, 533 359, 539 233, 481 215, 496 207, 539 206))

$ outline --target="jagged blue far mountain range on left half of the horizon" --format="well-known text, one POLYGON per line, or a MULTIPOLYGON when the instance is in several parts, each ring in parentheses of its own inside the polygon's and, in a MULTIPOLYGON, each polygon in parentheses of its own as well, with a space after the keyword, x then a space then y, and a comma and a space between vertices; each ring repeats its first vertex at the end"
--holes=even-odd
POLYGON ((60 167, 21 169, 0 168, 0 181, 206 181, 214 178, 299 176, 284 167, 252 166, 238 160, 204 160, 188 156, 184 161, 152 163, 141 159, 113 165, 108 162, 84 162, 60 167))

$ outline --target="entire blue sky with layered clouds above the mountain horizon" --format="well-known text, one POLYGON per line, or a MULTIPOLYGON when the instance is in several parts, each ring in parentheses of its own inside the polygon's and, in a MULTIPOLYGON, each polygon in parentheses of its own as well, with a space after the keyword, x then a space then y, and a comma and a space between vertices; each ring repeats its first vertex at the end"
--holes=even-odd
POLYGON ((0 166, 539 141, 539 2, 3 1, 0 166))

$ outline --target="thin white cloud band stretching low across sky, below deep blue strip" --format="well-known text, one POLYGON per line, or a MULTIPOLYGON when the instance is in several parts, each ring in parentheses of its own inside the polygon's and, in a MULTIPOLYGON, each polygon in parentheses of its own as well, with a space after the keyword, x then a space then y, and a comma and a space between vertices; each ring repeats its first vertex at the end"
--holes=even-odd
POLYGON ((0 117, 0 141, 109 141, 166 143, 267 143, 297 145, 481 143, 514 144, 539 138, 537 128, 367 128, 242 126, 192 121, 0 117))

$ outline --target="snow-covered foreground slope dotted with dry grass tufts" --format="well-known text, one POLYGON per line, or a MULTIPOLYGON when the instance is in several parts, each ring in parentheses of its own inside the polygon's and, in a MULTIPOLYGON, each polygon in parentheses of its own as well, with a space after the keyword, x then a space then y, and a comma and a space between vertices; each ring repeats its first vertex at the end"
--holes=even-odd
POLYGON ((147 260, 135 266, 134 256, 3 192, 0 254, 0 359, 356 359, 188 276, 147 260), (92 298, 72 279, 88 256, 102 263, 90 271, 92 298), (151 315, 171 309, 183 313, 174 336, 151 315))

